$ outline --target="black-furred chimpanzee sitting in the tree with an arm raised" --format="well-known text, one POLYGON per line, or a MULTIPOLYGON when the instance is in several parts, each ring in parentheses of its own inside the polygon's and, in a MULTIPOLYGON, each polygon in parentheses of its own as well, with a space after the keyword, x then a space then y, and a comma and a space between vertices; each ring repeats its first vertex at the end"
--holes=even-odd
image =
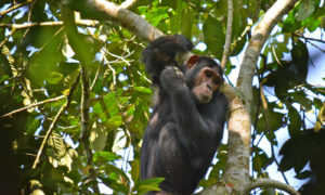
POLYGON ((219 91, 223 73, 211 57, 198 55, 178 67, 176 55, 192 49, 187 38, 173 35, 152 41, 142 53, 157 90, 142 143, 141 178, 165 178, 162 192, 148 194, 192 194, 221 142, 227 109, 219 91))

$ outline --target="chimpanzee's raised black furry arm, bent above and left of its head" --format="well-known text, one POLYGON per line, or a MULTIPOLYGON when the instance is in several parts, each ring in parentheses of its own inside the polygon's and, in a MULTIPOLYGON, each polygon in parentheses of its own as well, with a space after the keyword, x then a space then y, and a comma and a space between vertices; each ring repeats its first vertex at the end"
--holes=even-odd
POLYGON ((152 41, 142 52, 142 57, 153 83, 159 84, 159 76, 166 66, 178 65, 174 61, 178 53, 192 49, 192 42, 181 35, 165 36, 152 41))

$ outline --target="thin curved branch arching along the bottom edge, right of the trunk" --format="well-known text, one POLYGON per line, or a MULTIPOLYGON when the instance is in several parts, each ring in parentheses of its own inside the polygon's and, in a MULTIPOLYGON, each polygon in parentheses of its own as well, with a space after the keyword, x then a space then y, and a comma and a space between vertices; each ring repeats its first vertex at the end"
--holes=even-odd
POLYGON ((290 185, 287 185, 285 183, 282 183, 282 182, 275 181, 275 180, 264 179, 264 178, 250 183, 245 188, 244 194, 249 194, 249 192, 251 190, 257 188, 257 187, 273 187, 273 188, 283 190, 292 195, 300 195, 300 193, 295 191, 295 188, 291 187, 290 185))

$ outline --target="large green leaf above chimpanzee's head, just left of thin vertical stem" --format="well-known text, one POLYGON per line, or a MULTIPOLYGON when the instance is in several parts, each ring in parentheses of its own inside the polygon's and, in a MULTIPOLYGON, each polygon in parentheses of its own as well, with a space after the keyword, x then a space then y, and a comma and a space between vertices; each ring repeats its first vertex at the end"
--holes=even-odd
POLYGON ((217 58, 220 60, 225 40, 222 23, 212 16, 208 16, 203 26, 203 31, 208 50, 210 50, 217 58))

